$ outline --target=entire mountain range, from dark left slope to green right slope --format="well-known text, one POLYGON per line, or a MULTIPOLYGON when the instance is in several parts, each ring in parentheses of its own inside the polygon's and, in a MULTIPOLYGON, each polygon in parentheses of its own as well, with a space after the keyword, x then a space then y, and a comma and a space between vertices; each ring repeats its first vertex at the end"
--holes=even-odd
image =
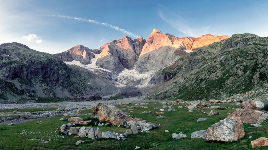
POLYGON ((179 38, 154 29, 98 49, 58 54, 0 45, 0 99, 111 95, 133 87, 148 99, 223 99, 267 83, 268 38, 254 34, 179 38))

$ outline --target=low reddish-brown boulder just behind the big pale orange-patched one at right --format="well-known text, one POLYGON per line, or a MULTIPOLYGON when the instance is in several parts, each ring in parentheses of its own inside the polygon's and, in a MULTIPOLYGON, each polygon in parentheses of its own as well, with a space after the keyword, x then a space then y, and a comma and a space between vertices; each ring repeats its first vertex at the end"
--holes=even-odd
POLYGON ((237 118, 244 123, 257 123, 257 122, 263 122, 265 120, 265 118, 261 114, 249 108, 245 109, 238 108, 234 113, 230 114, 226 118, 228 117, 237 118))

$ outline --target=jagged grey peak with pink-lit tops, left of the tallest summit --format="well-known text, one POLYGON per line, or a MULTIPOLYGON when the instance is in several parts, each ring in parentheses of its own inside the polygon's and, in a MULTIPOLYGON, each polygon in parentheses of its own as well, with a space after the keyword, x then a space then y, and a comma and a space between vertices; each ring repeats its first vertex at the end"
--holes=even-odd
POLYGON ((96 65, 113 72, 122 72, 125 68, 132 70, 136 65, 144 43, 145 40, 142 37, 133 41, 127 36, 106 43, 99 48, 101 53, 98 56, 96 65))

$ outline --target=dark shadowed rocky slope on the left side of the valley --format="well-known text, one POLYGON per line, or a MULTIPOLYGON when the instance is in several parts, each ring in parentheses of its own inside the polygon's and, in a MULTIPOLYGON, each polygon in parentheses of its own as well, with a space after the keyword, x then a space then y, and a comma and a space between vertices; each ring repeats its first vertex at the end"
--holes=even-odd
POLYGON ((88 70, 70 68, 54 55, 20 43, 0 45, 0 99, 81 97, 102 93, 101 88, 92 85, 94 76, 88 70))

